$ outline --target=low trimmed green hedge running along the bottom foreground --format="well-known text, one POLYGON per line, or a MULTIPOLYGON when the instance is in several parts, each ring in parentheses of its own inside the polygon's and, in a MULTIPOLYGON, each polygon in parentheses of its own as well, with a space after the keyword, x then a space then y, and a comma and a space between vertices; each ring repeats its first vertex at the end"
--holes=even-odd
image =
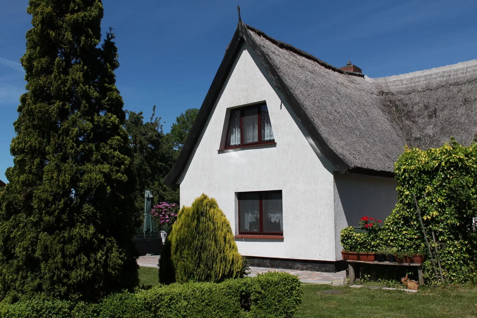
POLYGON ((298 277, 267 273, 222 283, 160 285, 100 303, 29 300, 0 304, 0 318, 289 318, 301 304, 298 277))

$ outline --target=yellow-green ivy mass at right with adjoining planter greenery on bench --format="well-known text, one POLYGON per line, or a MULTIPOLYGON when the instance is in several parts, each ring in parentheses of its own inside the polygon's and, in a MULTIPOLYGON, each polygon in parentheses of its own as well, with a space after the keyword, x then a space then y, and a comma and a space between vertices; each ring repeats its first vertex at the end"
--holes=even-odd
MULTIPOLYGON (((396 207, 383 223, 374 242, 342 231, 342 242, 350 250, 374 246, 393 247, 397 254, 428 254, 413 192, 424 219, 428 240, 439 255, 449 282, 477 280, 477 144, 470 147, 454 139, 440 148, 405 148, 394 168, 398 183, 396 207), (436 244, 432 240, 436 235, 436 244), (368 244, 368 245, 366 245, 368 244)), ((430 257, 424 264, 425 278, 433 281, 430 257)), ((434 282, 436 282, 434 280, 434 282)))

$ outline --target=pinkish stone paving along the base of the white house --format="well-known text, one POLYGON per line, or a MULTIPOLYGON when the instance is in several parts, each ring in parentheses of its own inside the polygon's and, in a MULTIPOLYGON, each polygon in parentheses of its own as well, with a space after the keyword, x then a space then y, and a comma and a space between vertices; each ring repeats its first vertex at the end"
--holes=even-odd
MULTIPOLYGON (((145 267, 157 267, 157 262, 159 260, 158 255, 151 256, 139 256, 137 264, 139 266, 145 267)), ((313 272, 313 271, 299 271, 294 269, 281 269, 281 268, 268 268, 268 267, 255 267, 250 266, 249 276, 257 276, 258 273, 267 273, 267 272, 286 272, 291 275, 298 275, 302 283, 331 283, 330 285, 342 285, 343 279, 346 277, 346 271, 341 271, 337 273, 323 273, 323 272, 313 272)))

